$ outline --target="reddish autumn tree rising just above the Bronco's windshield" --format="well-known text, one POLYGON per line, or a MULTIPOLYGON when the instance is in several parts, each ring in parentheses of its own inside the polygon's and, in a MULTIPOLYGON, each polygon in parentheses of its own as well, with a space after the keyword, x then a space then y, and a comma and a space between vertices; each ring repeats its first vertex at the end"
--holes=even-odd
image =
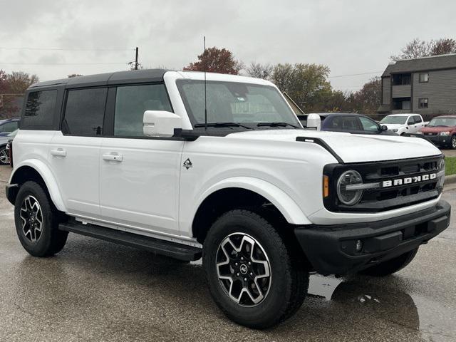
POLYGON ((190 63, 184 70, 239 75, 239 71, 242 68, 244 68, 244 63, 234 59, 231 51, 214 46, 213 48, 207 48, 204 53, 198 56, 198 61, 190 63))

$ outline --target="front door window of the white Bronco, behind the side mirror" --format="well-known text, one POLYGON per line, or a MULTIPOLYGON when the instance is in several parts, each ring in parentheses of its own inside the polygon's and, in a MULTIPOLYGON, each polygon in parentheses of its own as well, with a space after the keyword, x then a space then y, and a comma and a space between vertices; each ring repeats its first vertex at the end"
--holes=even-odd
POLYGON ((172 111, 165 85, 118 87, 115 95, 114 135, 142 137, 142 118, 145 110, 172 111))

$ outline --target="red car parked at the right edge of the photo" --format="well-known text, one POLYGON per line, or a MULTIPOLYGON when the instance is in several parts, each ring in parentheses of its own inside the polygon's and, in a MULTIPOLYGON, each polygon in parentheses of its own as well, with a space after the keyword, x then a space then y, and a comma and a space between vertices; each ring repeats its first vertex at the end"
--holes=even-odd
POLYGON ((437 116, 420 132, 435 145, 456 150, 456 115, 437 116))

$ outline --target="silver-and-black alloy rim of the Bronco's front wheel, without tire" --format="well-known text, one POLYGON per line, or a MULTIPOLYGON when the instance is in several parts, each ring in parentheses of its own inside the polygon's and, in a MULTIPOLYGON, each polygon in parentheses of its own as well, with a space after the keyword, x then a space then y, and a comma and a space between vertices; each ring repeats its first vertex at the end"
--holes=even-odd
POLYGON ((219 244, 216 269, 224 292, 242 306, 259 304, 271 286, 269 259, 248 234, 230 234, 219 244))

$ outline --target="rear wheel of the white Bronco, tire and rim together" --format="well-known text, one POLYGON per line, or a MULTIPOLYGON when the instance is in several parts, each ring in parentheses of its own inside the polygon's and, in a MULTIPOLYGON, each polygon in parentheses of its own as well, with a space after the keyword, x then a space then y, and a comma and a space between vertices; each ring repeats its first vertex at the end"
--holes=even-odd
POLYGON ((68 232, 58 230, 63 214, 58 212, 41 185, 25 182, 14 205, 14 220, 19 241, 34 257, 48 257, 60 252, 68 232))

